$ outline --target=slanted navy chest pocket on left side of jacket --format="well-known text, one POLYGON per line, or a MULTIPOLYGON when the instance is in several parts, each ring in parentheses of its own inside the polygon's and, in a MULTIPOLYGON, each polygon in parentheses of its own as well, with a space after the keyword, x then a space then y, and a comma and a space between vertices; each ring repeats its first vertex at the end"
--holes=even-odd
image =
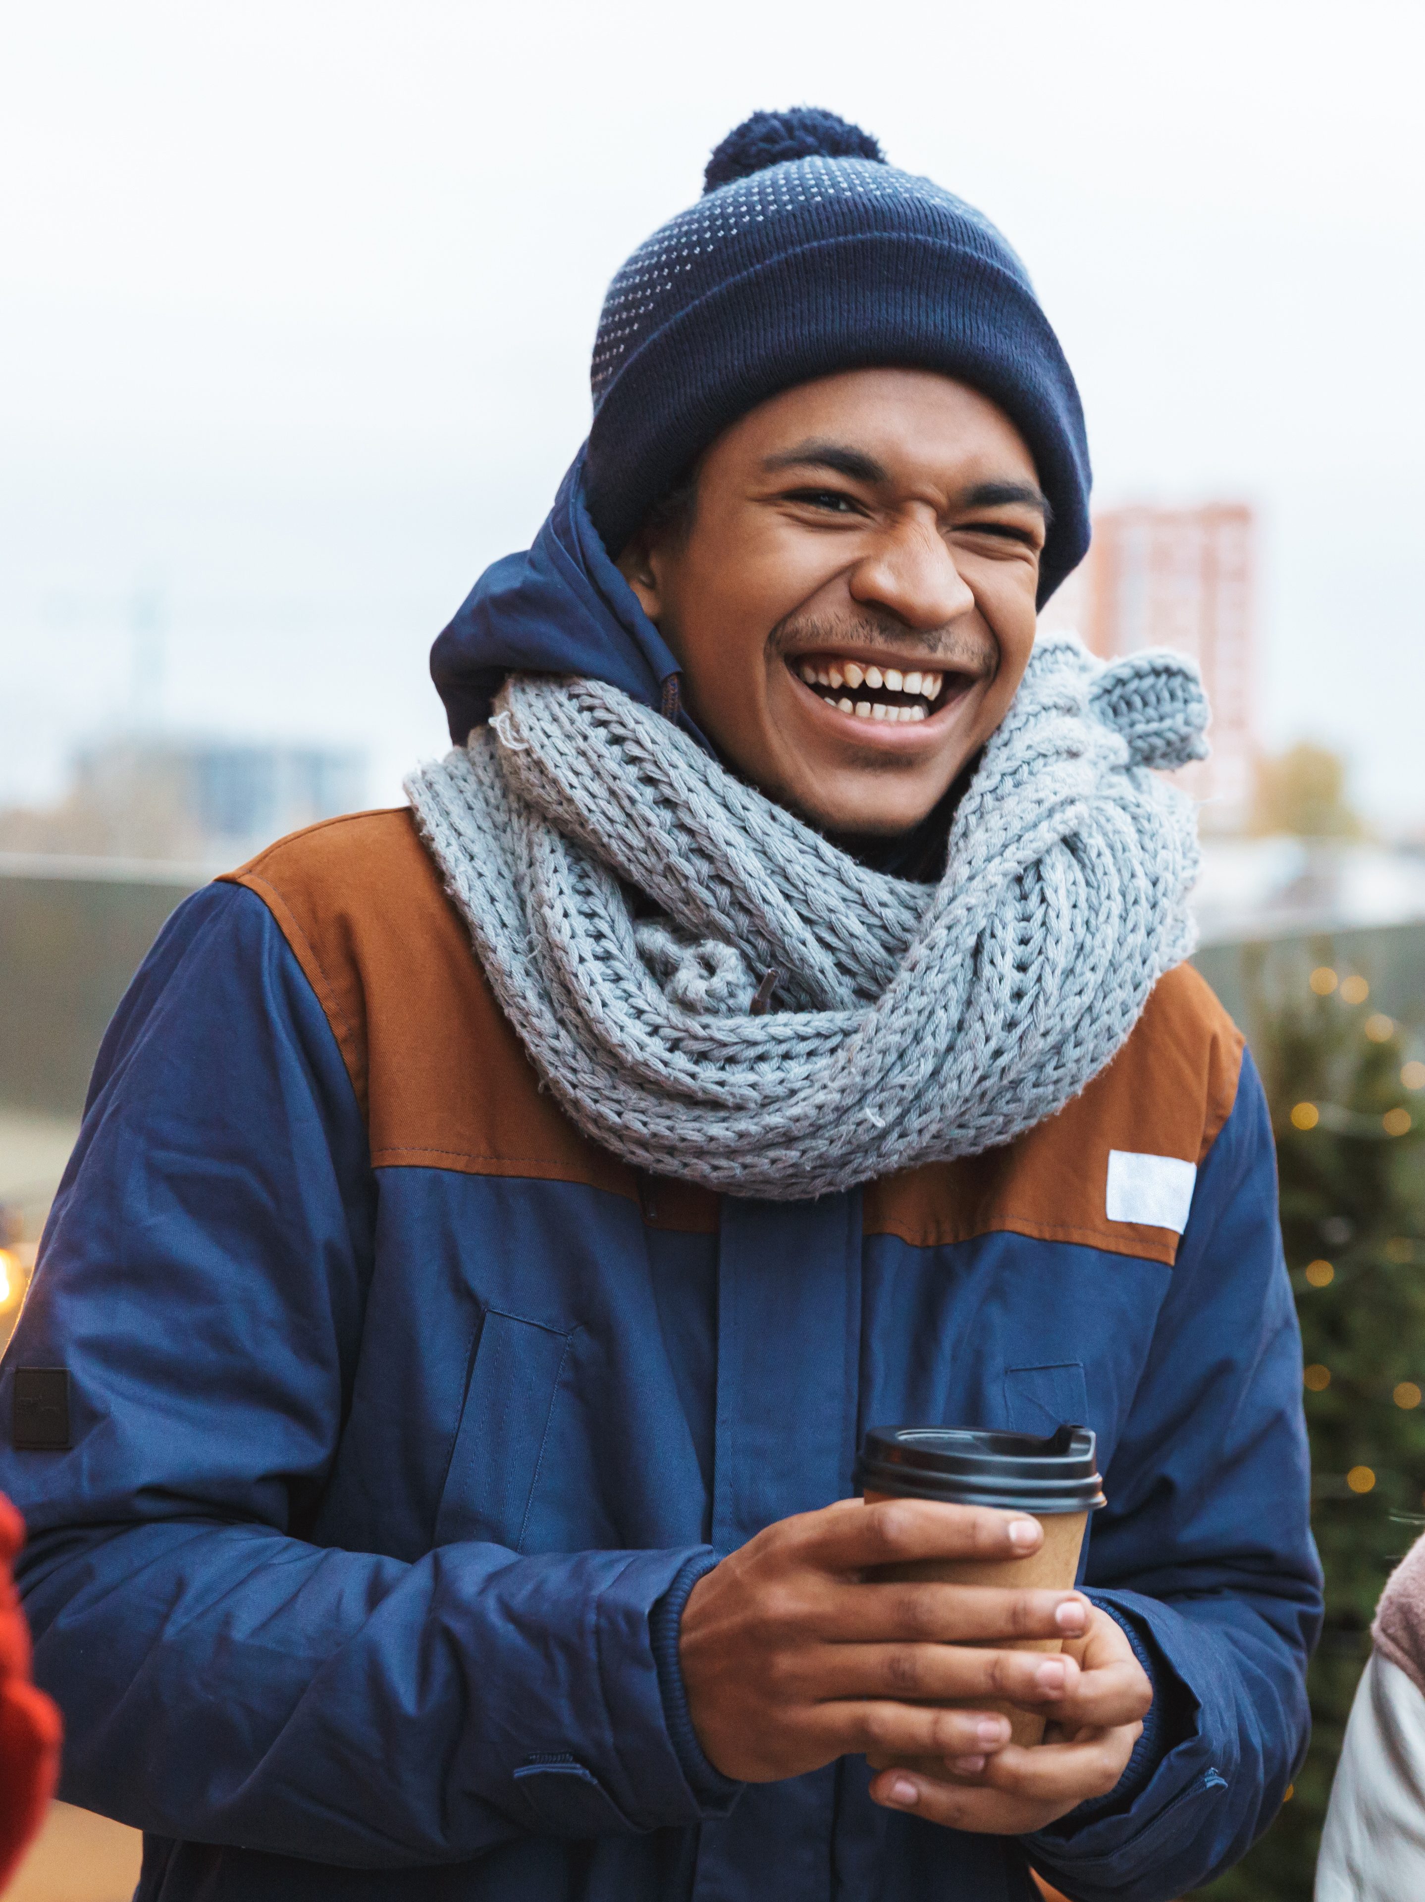
POLYGON ((479 1328, 445 1470, 436 1539, 519 1552, 575 1333, 491 1309, 479 1328))

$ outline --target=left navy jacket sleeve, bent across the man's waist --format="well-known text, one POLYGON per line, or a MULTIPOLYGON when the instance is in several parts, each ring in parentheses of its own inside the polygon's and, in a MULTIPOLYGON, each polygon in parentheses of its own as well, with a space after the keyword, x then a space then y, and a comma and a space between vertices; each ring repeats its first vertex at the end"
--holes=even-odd
POLYGON ((8 1423, 17 1366, 68 1371, 68 1449, 0 1451, 61 1794, 350 1868, 713 1813, 651 1632, 698 1548, 407 1563, 304 1537, 375 1202, 306 978, 261 900, 209 886, 110 1025, 0 1381, 8 1423))

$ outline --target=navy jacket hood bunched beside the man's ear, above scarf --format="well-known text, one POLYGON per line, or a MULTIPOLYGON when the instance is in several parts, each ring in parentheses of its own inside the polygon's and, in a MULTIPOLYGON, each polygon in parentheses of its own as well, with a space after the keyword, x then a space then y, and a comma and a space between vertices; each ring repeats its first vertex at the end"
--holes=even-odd
POLYGON ((582 449, 535 546, 485 569, 430 650, 455 746, 489 719, 506 673, 578 673, 658 708, 677 671, 590 521, 582 449))

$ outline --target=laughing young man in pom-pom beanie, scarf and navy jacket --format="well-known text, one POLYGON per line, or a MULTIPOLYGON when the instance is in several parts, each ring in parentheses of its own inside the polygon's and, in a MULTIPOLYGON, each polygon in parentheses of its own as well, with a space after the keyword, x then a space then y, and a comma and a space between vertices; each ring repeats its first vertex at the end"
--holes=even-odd
POLYGON ((1088 458, 999 234, 818 112, 708 184, 436 645, 457 751, 99 1059, 0 1466, 145 1898, 1153 1902, 1303 1748, 1271 1130, 1145 770, 1201 689, 1035 649, 1088 458), (1041 1537, 854 1499, 911 1423, 1088 1423, 1086 1588, 879 1579, 1041 1537))

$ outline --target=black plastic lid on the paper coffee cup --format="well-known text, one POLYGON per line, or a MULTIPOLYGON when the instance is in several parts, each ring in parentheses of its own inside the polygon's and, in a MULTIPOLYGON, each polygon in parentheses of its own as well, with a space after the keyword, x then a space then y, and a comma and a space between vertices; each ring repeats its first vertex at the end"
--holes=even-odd
POLYGON ((1043 1514, 1105 1504, 1088 1426, 1060 1426, 1046 1440, 978 1426, 871 1426, 856 1487, 1043 1514))

